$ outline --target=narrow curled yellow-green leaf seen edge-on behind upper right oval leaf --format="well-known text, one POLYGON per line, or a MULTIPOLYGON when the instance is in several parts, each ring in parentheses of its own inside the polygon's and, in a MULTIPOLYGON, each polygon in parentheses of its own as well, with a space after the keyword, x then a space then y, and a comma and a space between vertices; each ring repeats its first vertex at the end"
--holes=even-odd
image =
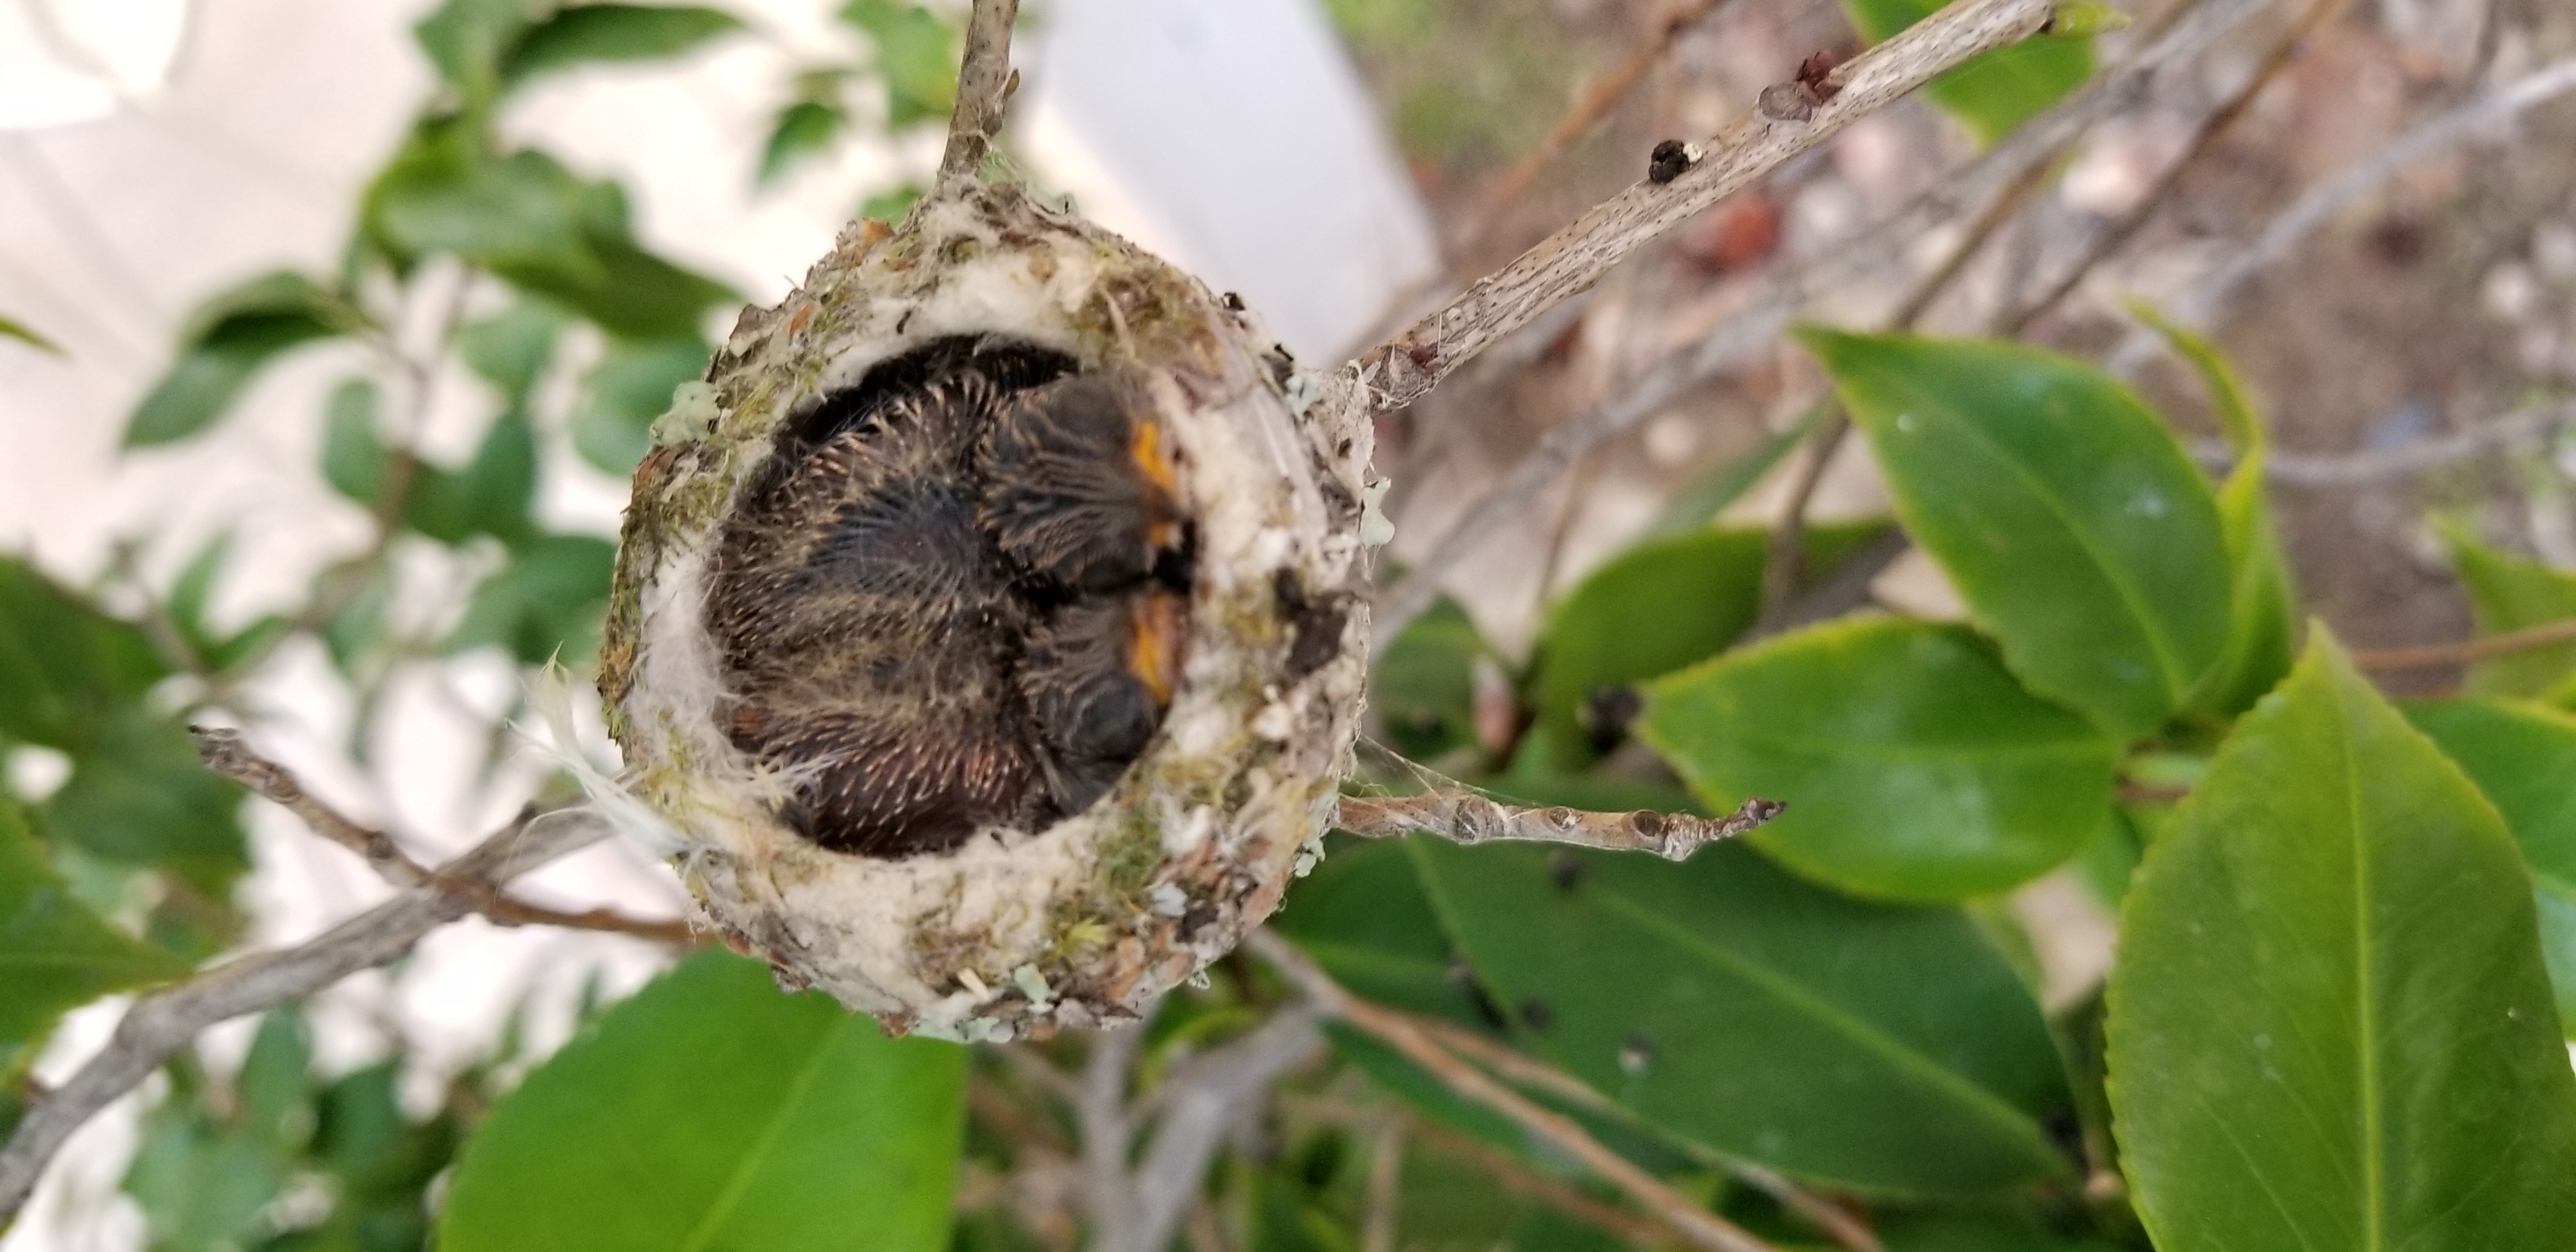
POLYGON ((2236 716, 2254 706, 2290 672, 2298 657, 2298 587, 2290 580, 2290 556, 2280 546, 2280 526, 2272 523, 2272 502, 2264 495, 2264 461, 2272 441, 2264 433, 2254 399, 2246 397, 2236 366, 2215 343, 2195 335, 2179 322, 2133 307, 2166 343, 2192 363, 2200 386, 2218 412, 2218 428, 2236 448, 2236 469, 2218 484, 2218 526, 2228 541, 2228 647, 2218 667, 2200 680, 2192 706, 2236 716))

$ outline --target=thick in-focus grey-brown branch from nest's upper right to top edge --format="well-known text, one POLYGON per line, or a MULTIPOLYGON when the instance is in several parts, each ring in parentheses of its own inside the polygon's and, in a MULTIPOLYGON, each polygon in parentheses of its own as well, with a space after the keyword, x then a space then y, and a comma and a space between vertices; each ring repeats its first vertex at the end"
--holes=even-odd
MULTIPOLYGON (((2020 44, 2045 26, 2050 0, 1963 0, 1855 57, 1795 111, 1754 111, 1708 139, 1690 165, 1602 201, 1574 224, 1479 278, 1458 299, 1355 361, 1370 410, 1412 404, 1489 343, 1592 286, 1628 252, 1757 183, 1780 162, 1909 95, 1968 57, 2020 44), (1772 116, 1780 113, 1780 116, 1772 116)), ((1772 90, 1798 93, 1798 82, 1772 90)))

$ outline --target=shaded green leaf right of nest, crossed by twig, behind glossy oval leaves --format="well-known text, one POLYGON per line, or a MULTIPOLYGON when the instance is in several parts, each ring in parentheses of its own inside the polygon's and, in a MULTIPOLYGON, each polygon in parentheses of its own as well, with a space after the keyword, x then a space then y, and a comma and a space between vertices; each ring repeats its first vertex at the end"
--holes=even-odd
MULTIPOLYGON (((1814 526, 1801 533, 1806 582, 1829 577, 1883 520, 1814 526)), ((1618 742, 1600 703, 1636 683, 1716 657, 1762 611, 1770 533, 1695 531, 1654 538, 1595 569, 1548 611, 1530 659, 1533 765, 1571 773, 1618 742)))

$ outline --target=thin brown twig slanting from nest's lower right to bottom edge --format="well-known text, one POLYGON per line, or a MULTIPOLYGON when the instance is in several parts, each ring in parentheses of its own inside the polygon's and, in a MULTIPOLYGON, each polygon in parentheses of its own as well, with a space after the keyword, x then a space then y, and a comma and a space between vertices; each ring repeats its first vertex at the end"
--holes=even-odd
POLYGON ((1528 1095, 1520 1095, 1512 1087, 1504 1087, 1502 1082, 1486 1077, 1484 1069, 1461 1061, 1455 1054, 1450 1054, 1448 1048, 1435 1043, 1427 1033, 1422 1033, 1406 1015, 1370 1005, 1368 1000, 1345 992, 1342 984, 1332 982, 1332 976, 1324 974, 1321 966, 1309 961, 1306 953, 1296 951, 1296 945, 1278 938, 1275 933, 1255 930, 1252 935, 1244 938, 1244 945, 1252 948, 1262 961, 1270 961, 1270 966, 1285 974, 1288 982, 1298 984, 1298 989, 1306 992, 1309 1000, 1314 1000, 1319 1012, 1327 1012, 1360 1030, 1368 1030, 1386 1046, 1401 1051, 1409 1061, 1419 1064, 1422 1069, 1430 1069, 1435 1077, 1440 1077, 1440 1082, 1445 1082, 1461 1097, 1492 1108, 1494 1113, 1512 1118, 1512 1123, 1517 1123, 1522 1131, 1535 1133, 1548 1144, 1556 1144, 1569 1157, 1582 1162, 1587 1170, 1592 1170, 1595 1175, 1623 1190, 1631 1200, 1643 1206, 1659 1221, 1672 1226, 1672 1231, 1680 1234, 1690 1247, 1698 1247, 1703 1252, 1777 1252, 1767 1242, 1752 1237, 1752 1231, 1710 1213, 1708 1208, 1700 1208, 1687 1195, 1667 1188, 1664 1180, 1636 1167, 1636 1162, 1631 1162, 1628 1157, 1610 1152, 1607 1146, 1600 1144, 1600 1139, 1592 1139, 1589 1131, 1574 1123, 1574 1118, 1540 1108, 1528 1095))

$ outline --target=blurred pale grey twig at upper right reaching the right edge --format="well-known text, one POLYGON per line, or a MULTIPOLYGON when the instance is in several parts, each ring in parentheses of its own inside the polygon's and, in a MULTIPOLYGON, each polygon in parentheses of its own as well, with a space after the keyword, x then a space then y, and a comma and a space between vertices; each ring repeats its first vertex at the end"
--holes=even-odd
MULTIPOLYGON (((2308 234, 2316 234, 2318 227, 2347 206, 2378 191, 2398 170, 2494 134, 2494 129, 2522 116, 2527 108, 2568 90, 2576 90, 2576 57, 2555 59, 2512 82, 2481 90, 2468 103, 2396 137, 2388 147, 2311 188, 2290 209, 2282 209, 2280 216, 2264 224, 2262 234, 2174 299, 2166 307, 2166 317, 2184 327, 2208 327, 2249 278, 2280 263, 2308 234)), ((2112 374, 2136 374, 2161 343, 2161 335, 2133 330, 2110 358, 2112 374)))

